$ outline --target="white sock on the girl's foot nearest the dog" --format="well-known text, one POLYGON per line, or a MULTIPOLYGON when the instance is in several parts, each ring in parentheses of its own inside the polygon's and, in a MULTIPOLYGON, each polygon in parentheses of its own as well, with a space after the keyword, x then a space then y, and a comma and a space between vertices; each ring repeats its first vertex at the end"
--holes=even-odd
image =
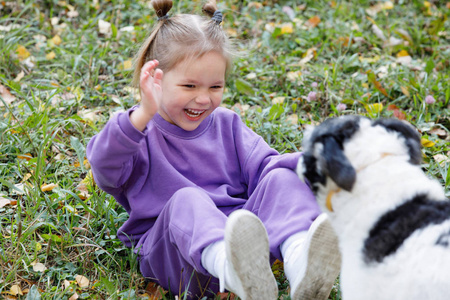
POLYGON ((295 233, 288 237, 283 243, 281 243, 280 246, 281 255, 283 256, 284 262, 284 274, 286 275, 286 278, 291 285, 291 290, 293 290, 293 288, 295 289, 300 283, 300 281, 293 281, 295 279, 303 278, 303 275, 299 276, 299 274, 306 271, 308 260, 305 259, 304 264, 298 265, 298 259, 300 255, 304 255, 307 253, 303 249, 307 235, 307 230, 295 233))

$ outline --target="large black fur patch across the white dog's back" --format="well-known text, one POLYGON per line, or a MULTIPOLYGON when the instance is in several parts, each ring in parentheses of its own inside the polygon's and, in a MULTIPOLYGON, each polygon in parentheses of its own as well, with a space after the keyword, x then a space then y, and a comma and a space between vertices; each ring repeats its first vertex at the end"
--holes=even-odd
POLYGON ((433 201, 427 195, 412 200, 383 215, 364 243, 366 263, 378 262, 393 253, 416 230, 450 219, 450 202, 433 201))

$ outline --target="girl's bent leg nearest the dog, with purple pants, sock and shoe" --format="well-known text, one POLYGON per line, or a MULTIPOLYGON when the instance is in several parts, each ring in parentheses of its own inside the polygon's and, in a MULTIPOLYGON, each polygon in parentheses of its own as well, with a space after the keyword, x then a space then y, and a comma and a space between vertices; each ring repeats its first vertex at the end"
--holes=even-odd
POLYGON ((244 208, 267 228, 271 254, 284 261, 291 298, 328 299, 339 274, 340 253, 336 235, 326 215, 318 218, 320 209, 306 184, 291 170, 275 169, 244 208))

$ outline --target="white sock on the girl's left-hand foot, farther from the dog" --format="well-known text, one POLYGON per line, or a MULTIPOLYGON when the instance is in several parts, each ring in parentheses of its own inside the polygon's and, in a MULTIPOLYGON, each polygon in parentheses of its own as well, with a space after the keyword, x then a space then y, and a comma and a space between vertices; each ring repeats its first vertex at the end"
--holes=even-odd
POLYGON ((221 293, 227 289, 238 296, 242 294, 242 284, 227 260, 224 240, 214 242, 203 250, 202 266, 211 275, 219 278, 221 293))

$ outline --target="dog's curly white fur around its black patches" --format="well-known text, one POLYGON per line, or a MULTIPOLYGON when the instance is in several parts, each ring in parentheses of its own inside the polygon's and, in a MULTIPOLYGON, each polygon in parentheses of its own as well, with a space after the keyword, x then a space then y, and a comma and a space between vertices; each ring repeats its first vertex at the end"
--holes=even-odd
MULTIPOLYGON (((334 124, 324 124, 323 134, 327 134, 326 126, 330 136, 339 133, 334 124)), ((350 191, 340 188, 327 174, 324 146, 320 139, 313 140, 317 138, 315 129, 310 129, 304 139, 305 155, 316 159, 315 172, 326 177, 325 184, 312 185, 339 238, 344 300, 450 299, 450 248, 437 244, 450 232, 450 216, 414 230, 381 262, 367 262, 364 246, 380 218, 416 195, 426 195, 431 201, 448 200, 440 184, 428 178, 420 165, 410 162, 407 137, 382 125, 374 126, 366 118, 358 118, 355 125, 358 128, 342 144, 345 157, 356 171, 350 191), (327 197, 333 211, 326 206, 327 197)), ((314 179, 308 178, 307 163, 300 159, 297 172, 311 181, 314 179)))

